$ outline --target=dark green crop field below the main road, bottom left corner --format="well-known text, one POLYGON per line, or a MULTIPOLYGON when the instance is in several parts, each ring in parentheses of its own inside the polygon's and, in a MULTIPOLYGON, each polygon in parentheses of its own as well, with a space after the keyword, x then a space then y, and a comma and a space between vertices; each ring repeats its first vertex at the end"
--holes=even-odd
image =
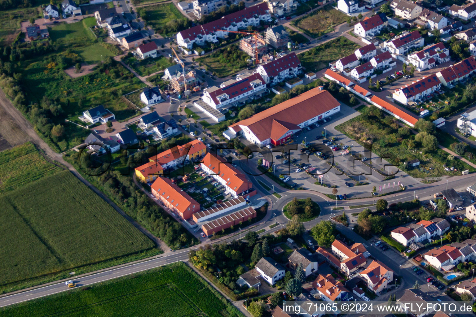
MULTIPOLYGON (((79 279, 80 280, 80 279, 79 279)), ((183 263, 0 308, 0 317, 242 317, 183 263)))

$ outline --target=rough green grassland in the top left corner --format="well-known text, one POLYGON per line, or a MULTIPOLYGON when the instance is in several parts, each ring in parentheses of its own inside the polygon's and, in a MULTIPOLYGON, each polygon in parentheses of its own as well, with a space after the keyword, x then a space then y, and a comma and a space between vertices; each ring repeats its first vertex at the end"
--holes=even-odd
MULTIPOLYGON (((37 4, 39 5, 39 3, 37 4)), ((40 18, 38 7, 0 10, 0 45, 8 45, 20 33, 20 22, 30 17, 40 18)))

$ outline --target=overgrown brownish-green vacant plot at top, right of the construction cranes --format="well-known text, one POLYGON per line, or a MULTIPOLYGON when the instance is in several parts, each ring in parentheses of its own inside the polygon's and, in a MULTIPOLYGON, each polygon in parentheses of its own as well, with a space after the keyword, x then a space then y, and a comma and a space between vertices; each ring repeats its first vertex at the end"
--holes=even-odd
POLYGON ((347 15, 327 5, 312 14, 296 19, 292 24, 307 35, 316 38, 331 32, 338 24, 347 21, 347 15))

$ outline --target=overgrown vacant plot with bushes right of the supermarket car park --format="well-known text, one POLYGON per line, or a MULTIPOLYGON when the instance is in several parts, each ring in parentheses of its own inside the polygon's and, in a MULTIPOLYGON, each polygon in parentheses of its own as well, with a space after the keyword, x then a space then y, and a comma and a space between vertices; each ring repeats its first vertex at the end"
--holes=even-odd
POLYGON ((349 138, 372 151, 380 157, 398 166, 401 170, 416 178, 441 177, 443 175, 457 175, 461 172, 445 171, 444 164, 454 166, 458 171, 473 167, 460 161, 449 159, 449 154, 440 148, 433 151, 421 151, 421 142, 417 142, 415 134, 401 134, 397 119, 391 116, 384 117, 382 110, 375 110, 371 106, 361 110, 358 115, 349 121, 336 126, 336 129, 349 138), (417 168, 407 169, 403 164, 412 159, 420 160, 417 168))

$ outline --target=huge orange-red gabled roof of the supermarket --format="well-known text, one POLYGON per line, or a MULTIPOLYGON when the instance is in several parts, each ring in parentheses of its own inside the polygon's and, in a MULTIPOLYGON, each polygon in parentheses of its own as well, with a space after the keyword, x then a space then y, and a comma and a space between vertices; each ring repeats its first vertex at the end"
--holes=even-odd
POLYGON ((261 111, 248 119, 230 125, 230 127, 234 128, 239 125, 247 127, 256 135, 258 140, 264 141, 270 138, 271 134, 276 137, 279 131, 284 131, 283 126, 285 128, 295 128, 298 124, 339 105, 340 103, 327 90, 316 87, 261 111))

